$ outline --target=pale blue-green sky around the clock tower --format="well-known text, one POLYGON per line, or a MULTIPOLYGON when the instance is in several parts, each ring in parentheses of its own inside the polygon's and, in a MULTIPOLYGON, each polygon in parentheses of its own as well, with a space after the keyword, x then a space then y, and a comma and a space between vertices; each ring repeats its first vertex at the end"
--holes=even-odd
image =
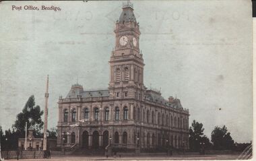
MULTIPOLYGON (((131 1, 139 22, 144 84, 177 96, 189 122, 211 137, 226 125, 236 142, 253 137, 251 2, 131 1)), ((122 1, 3 1, 0 5, 0 125, 8 129, 31 95, 49 129, 71 85, 107 88, 122 1), (12 10, 12 5, 22 10, 12 10), (24 10, 25 5, 61 11, 24 10)))

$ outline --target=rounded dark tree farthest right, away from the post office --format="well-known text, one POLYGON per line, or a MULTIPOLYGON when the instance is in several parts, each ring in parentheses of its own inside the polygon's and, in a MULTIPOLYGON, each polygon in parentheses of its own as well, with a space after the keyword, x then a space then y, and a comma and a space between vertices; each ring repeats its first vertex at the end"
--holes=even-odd
POLYGON ((214 127, 212 131, 212 142, 214 143, 214 149, 216 150, 231 150, 234 148, 234 140, 230 136, 226 126, 222 128, 214 127))

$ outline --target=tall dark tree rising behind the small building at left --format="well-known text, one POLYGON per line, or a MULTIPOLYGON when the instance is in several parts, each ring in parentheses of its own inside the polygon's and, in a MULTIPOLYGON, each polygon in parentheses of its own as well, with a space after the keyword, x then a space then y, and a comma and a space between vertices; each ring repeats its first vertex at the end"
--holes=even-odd
POLYGON ((32 95, 28 98, 22 112, 17 115, 13 128, 16 131, 20 131, 20 133, 25 133, 25 126, 27 122, 28 128, 34 128, 36 129, 36 133, 40 133, 40 130, 44 125, 41 119, 43 113, 44 112, 40 110, 40 106, 35 106, 34 95, 32 95))

